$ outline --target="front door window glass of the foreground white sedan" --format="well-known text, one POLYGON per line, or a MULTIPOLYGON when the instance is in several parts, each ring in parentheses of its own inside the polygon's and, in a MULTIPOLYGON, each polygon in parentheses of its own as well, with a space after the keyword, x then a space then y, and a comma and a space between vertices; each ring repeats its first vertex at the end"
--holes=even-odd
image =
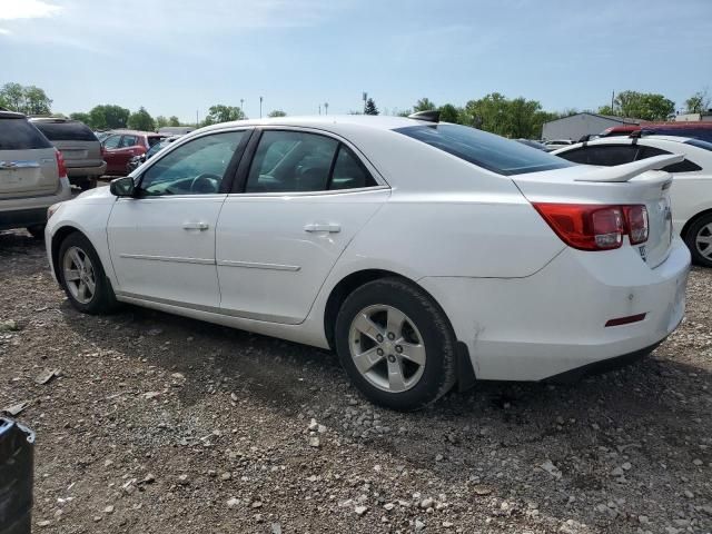
POLYGON ((245 131, 199 137, 158 159, 144 172, 140 194, 209 195, 220 191, 225 172, 245 131))

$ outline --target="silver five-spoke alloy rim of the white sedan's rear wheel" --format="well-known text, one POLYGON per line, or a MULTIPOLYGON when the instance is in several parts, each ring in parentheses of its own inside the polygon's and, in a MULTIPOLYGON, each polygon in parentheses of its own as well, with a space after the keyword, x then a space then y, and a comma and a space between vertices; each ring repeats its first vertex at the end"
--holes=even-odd
POLYGON ((393 306, 367 306, 356 314, 348 346, 360 375, 384 392, 411 389, 425 370, 423 336, 413 320, 393 306))

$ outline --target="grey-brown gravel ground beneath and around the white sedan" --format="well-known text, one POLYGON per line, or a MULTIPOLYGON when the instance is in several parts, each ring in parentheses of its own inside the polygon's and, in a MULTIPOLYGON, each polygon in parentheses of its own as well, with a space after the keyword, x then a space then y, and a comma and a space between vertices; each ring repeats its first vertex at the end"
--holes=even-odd
POLYGON ((692 273, 682 327, 633 366, 406 415, 323 350, 80 315, 43 246, 3 233, 0 408, 30 403, 38 532, 709 533, 711 283, 692 273))

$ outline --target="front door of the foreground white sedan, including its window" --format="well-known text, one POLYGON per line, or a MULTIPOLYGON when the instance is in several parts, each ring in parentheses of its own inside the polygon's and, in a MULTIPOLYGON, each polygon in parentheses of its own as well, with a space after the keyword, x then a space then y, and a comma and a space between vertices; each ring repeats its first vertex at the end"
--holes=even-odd
POLYGON ((209 134, 181 144, 141 174, 137 198, 117 200, 108 237, 118 294, 218 309, 215 229, 225 178, 246 135, 209 134))

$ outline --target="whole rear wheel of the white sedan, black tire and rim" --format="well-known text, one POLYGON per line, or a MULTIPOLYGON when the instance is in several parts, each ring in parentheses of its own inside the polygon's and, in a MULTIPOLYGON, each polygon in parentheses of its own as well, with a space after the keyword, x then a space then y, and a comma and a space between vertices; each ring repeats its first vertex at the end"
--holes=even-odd
POLYGON ((447 317, 425 291, 399 278, 369 281, 346 298, 335 345, 352 383, 392 409, 424 408, 455 384, 456 339, 447 317))

